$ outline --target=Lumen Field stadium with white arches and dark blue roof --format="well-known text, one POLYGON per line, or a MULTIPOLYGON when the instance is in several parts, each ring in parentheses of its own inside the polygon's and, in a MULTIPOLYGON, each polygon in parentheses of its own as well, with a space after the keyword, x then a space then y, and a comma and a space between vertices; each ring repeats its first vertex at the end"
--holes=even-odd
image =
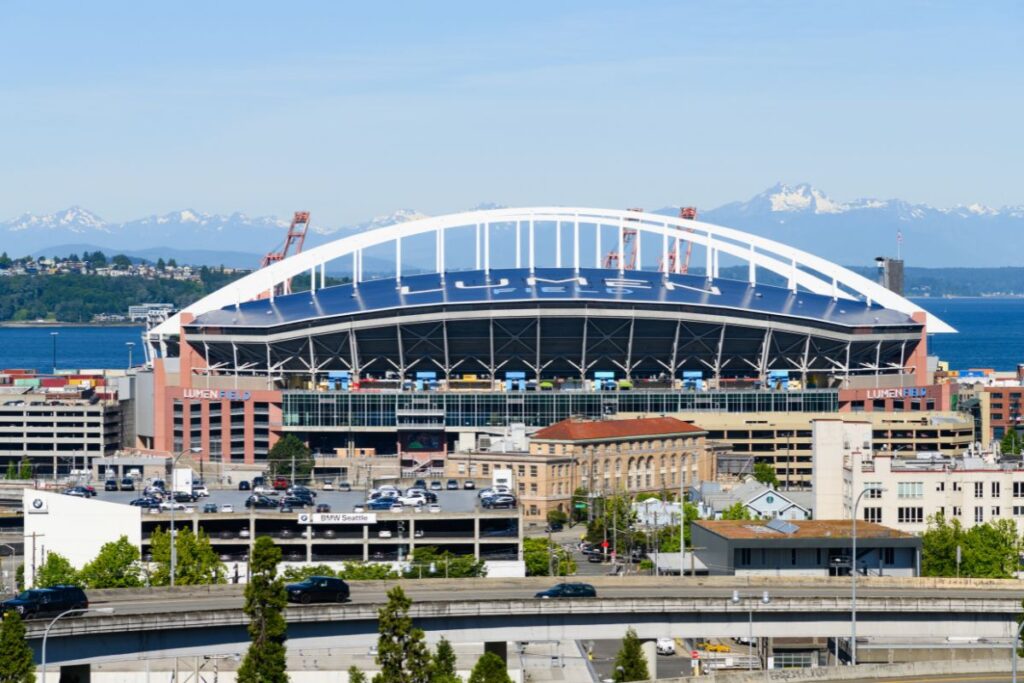
POLYGON ((297 254, 150 331, 140 445, 258 462, 287 431, 394 453, 571 415, 827 412, 844 389, 927 385, 941 332, 902 296, 739 230, 468 212, 297 254))

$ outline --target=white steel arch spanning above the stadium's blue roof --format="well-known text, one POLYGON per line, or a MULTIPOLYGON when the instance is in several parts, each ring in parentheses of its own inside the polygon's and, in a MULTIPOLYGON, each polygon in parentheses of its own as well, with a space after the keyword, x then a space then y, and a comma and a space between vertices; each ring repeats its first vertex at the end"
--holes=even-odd
MULTIPOLYGON (((357 288, 364 280, 362 252, 371 247, 388 243, 394 243, 395 280, 400 283, 401 241, 431 232, 435 233, 435 271, 441 273, 443 276, 449 270, 444 257, 444 232, 453 228, 473 228, 475 234, 473 253, 476 266, 477 268, 482 267, 482 269, 489 271, 492 267, 490 263, 494 260, 490 254, 493 241, 489 234, 492 225, 498 223, 516 224, 516 264, 519 265, 520 262, 519 245, 525 243, 527 267, 530 270, 535 268, 536 255, 542 251, 550 253, 550 249, 553 246, 538 244, 539 240, 535 229, 538 223, 554 223, 556 225, 556 233, 558 234, 558 242, 555 245, 557 262, 563 265, 563 267, 567 267, 564 261, 570 260, 572 267, 577 270, 583 267, 582 262, 585 260, 585 256, 581 253, 580 249, 580 232, 583 229, 598 230, 595 238, 595 261, 600 258, 601 254, 600 230, 606 230, 608 226, 617 229, 615 243, 608 246, 617 250, 617 269, 620 271, 626 267, 626 240, 624 237, 627 230, 635 229, 639 232, 660 237, 662 239, 663 265, 660 268, 647 268, 648 270, 662 270, 666 274, 669 274, 669 272, 678 272, 680 265, 678 258, 676 259, 675 269, 670 270, 669 259, 664 257, 672 249, 675 249, 675 253, 678 255, 678 243, 688 241, 703 247, 706 272, 709 279, 718 276, 719 256, 724 253, 750 265, 749 280, 752 285, 756 284, 757 268, 761 267, 785 278, 788 288, 793 291, 803 288, 807 291, 831 296, 837 299, 860 298, 868 303, 878 303, 886 308, 891 308, 907 315, 925 313, 927 329, 930 333, 955 332, 952 327, 935 315, 928 313, 928 311, 912 301, 889 291, 878 283, 823 258, 773 240, 698 220, 688 220, 638 211, 577 207, 532 207, 469 211, 423 218, 359 232, 290 256, 283 261, 256 270, 203 297, 181 312, 189 313, 194 316, 201 315, 211 310, 241 304, 261 295, 268 295, 272 300, 276 285, 305 272, 309 273, 310 282, 315 292, 317 268, 319 269, 321 288, 323 288, 326 280, 327 264, 342 258, 351 259, 353 286, 357 288), (526 239, 522 239, 520 234, 523 226, 526 228, 526 239), (569 228, 573 241, 573 248, 568 255, 568 259, 563 258, 562 255, 560 238, 564 227, 569 228)), ((637 251, 639 251, 639 242, 637 244, 637 251)), ((595 263, 595 266, 601 267, 599 263, 595 263)), ((642 269, 641 259, 638 259, 636 267, 642 269)), ((180 325, 181 313, 179 312, 152 330, 150 339, 158 341, 161 338, 177 335, 180 331, 180 325)))

